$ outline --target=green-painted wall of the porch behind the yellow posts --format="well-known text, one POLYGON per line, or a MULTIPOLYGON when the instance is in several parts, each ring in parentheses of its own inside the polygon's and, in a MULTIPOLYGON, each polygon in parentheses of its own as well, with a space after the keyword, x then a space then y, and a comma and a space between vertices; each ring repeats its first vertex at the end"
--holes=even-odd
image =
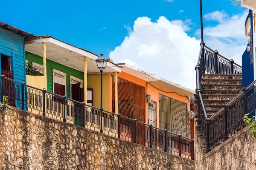
MULTIPOLYGON (((43 65, 43 57, 40 57, 36 54, 32 54, 26 51, 26 59, 30 64, 32 62, 38 63, 43 65)), ((53 92, 53 75, 52 75, 52 69, 61 71, 67 75, 66 77, 66 91, 67 91, 67 97, 70 98, 70 75, 73 77, 76 77, 78 79, 81 79, 84 81, 84 73, 81 71, 77 71, 73 68, 67 67, 65 65, 61 65, 58 62, 54 62, 52 60, 46 59, 47 63, 47 91, 53 92)))

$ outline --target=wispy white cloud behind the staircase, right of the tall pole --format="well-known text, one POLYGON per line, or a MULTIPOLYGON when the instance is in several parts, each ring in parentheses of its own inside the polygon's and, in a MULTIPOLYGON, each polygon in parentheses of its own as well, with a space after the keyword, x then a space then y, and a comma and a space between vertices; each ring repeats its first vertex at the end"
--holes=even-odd
MULTIPOLYGON (((205 20, 214 20, 218 24, 204 28, 204 41, 213 50, 226 58, 234 59, 241 64, 241 56, 246 49, 244 22, 248 13, 236 14, 230 17, 225 11, 215 11, 205 14, 205 20)), ((200 30, 197 31, 200 34, 200 30)))

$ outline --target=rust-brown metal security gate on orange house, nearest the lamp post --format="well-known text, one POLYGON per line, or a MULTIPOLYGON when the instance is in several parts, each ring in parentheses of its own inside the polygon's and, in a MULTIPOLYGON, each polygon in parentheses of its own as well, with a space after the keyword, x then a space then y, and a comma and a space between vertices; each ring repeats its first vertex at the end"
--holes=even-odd
MULTIPOLYGON (((115 82, 113 78, 113 113, 115 113, 115 82)), ((117 80, 118 113, 145 122, 145 88, 125 79, 117 80)))

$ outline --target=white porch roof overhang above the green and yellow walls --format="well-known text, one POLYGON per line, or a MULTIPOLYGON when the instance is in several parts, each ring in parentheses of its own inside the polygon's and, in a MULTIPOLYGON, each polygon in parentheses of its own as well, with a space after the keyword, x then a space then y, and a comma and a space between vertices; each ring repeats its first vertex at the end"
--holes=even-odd
MULTIPOLYGON (((84 71, 84 56, 87 57, 87 72, 98 73, 96 59, 98 56, 90 51, 75 47, 61 40, 49 36, 39 36, 41 39, 25 42, 25 50, 39 56, 43 56, 42 43, 46 43, 46 58, 58 62, 67 67, 84 71)), ((121 68, 111 62, 107 63, 104 72, 120 72, 121 68)))

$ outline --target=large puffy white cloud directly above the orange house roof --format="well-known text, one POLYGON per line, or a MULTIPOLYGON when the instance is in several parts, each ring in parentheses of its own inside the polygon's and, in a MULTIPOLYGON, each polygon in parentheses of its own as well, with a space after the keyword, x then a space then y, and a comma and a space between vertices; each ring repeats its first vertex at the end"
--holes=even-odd
POLYGON ((131 33, 109 57, 113 62, 136 65, 143 71, 195 89, 194 68, 200 41, 185 33, 184 23, 188 21, 170 22, 160 17, 152 22, 148 17, 139 17, 131 33))

